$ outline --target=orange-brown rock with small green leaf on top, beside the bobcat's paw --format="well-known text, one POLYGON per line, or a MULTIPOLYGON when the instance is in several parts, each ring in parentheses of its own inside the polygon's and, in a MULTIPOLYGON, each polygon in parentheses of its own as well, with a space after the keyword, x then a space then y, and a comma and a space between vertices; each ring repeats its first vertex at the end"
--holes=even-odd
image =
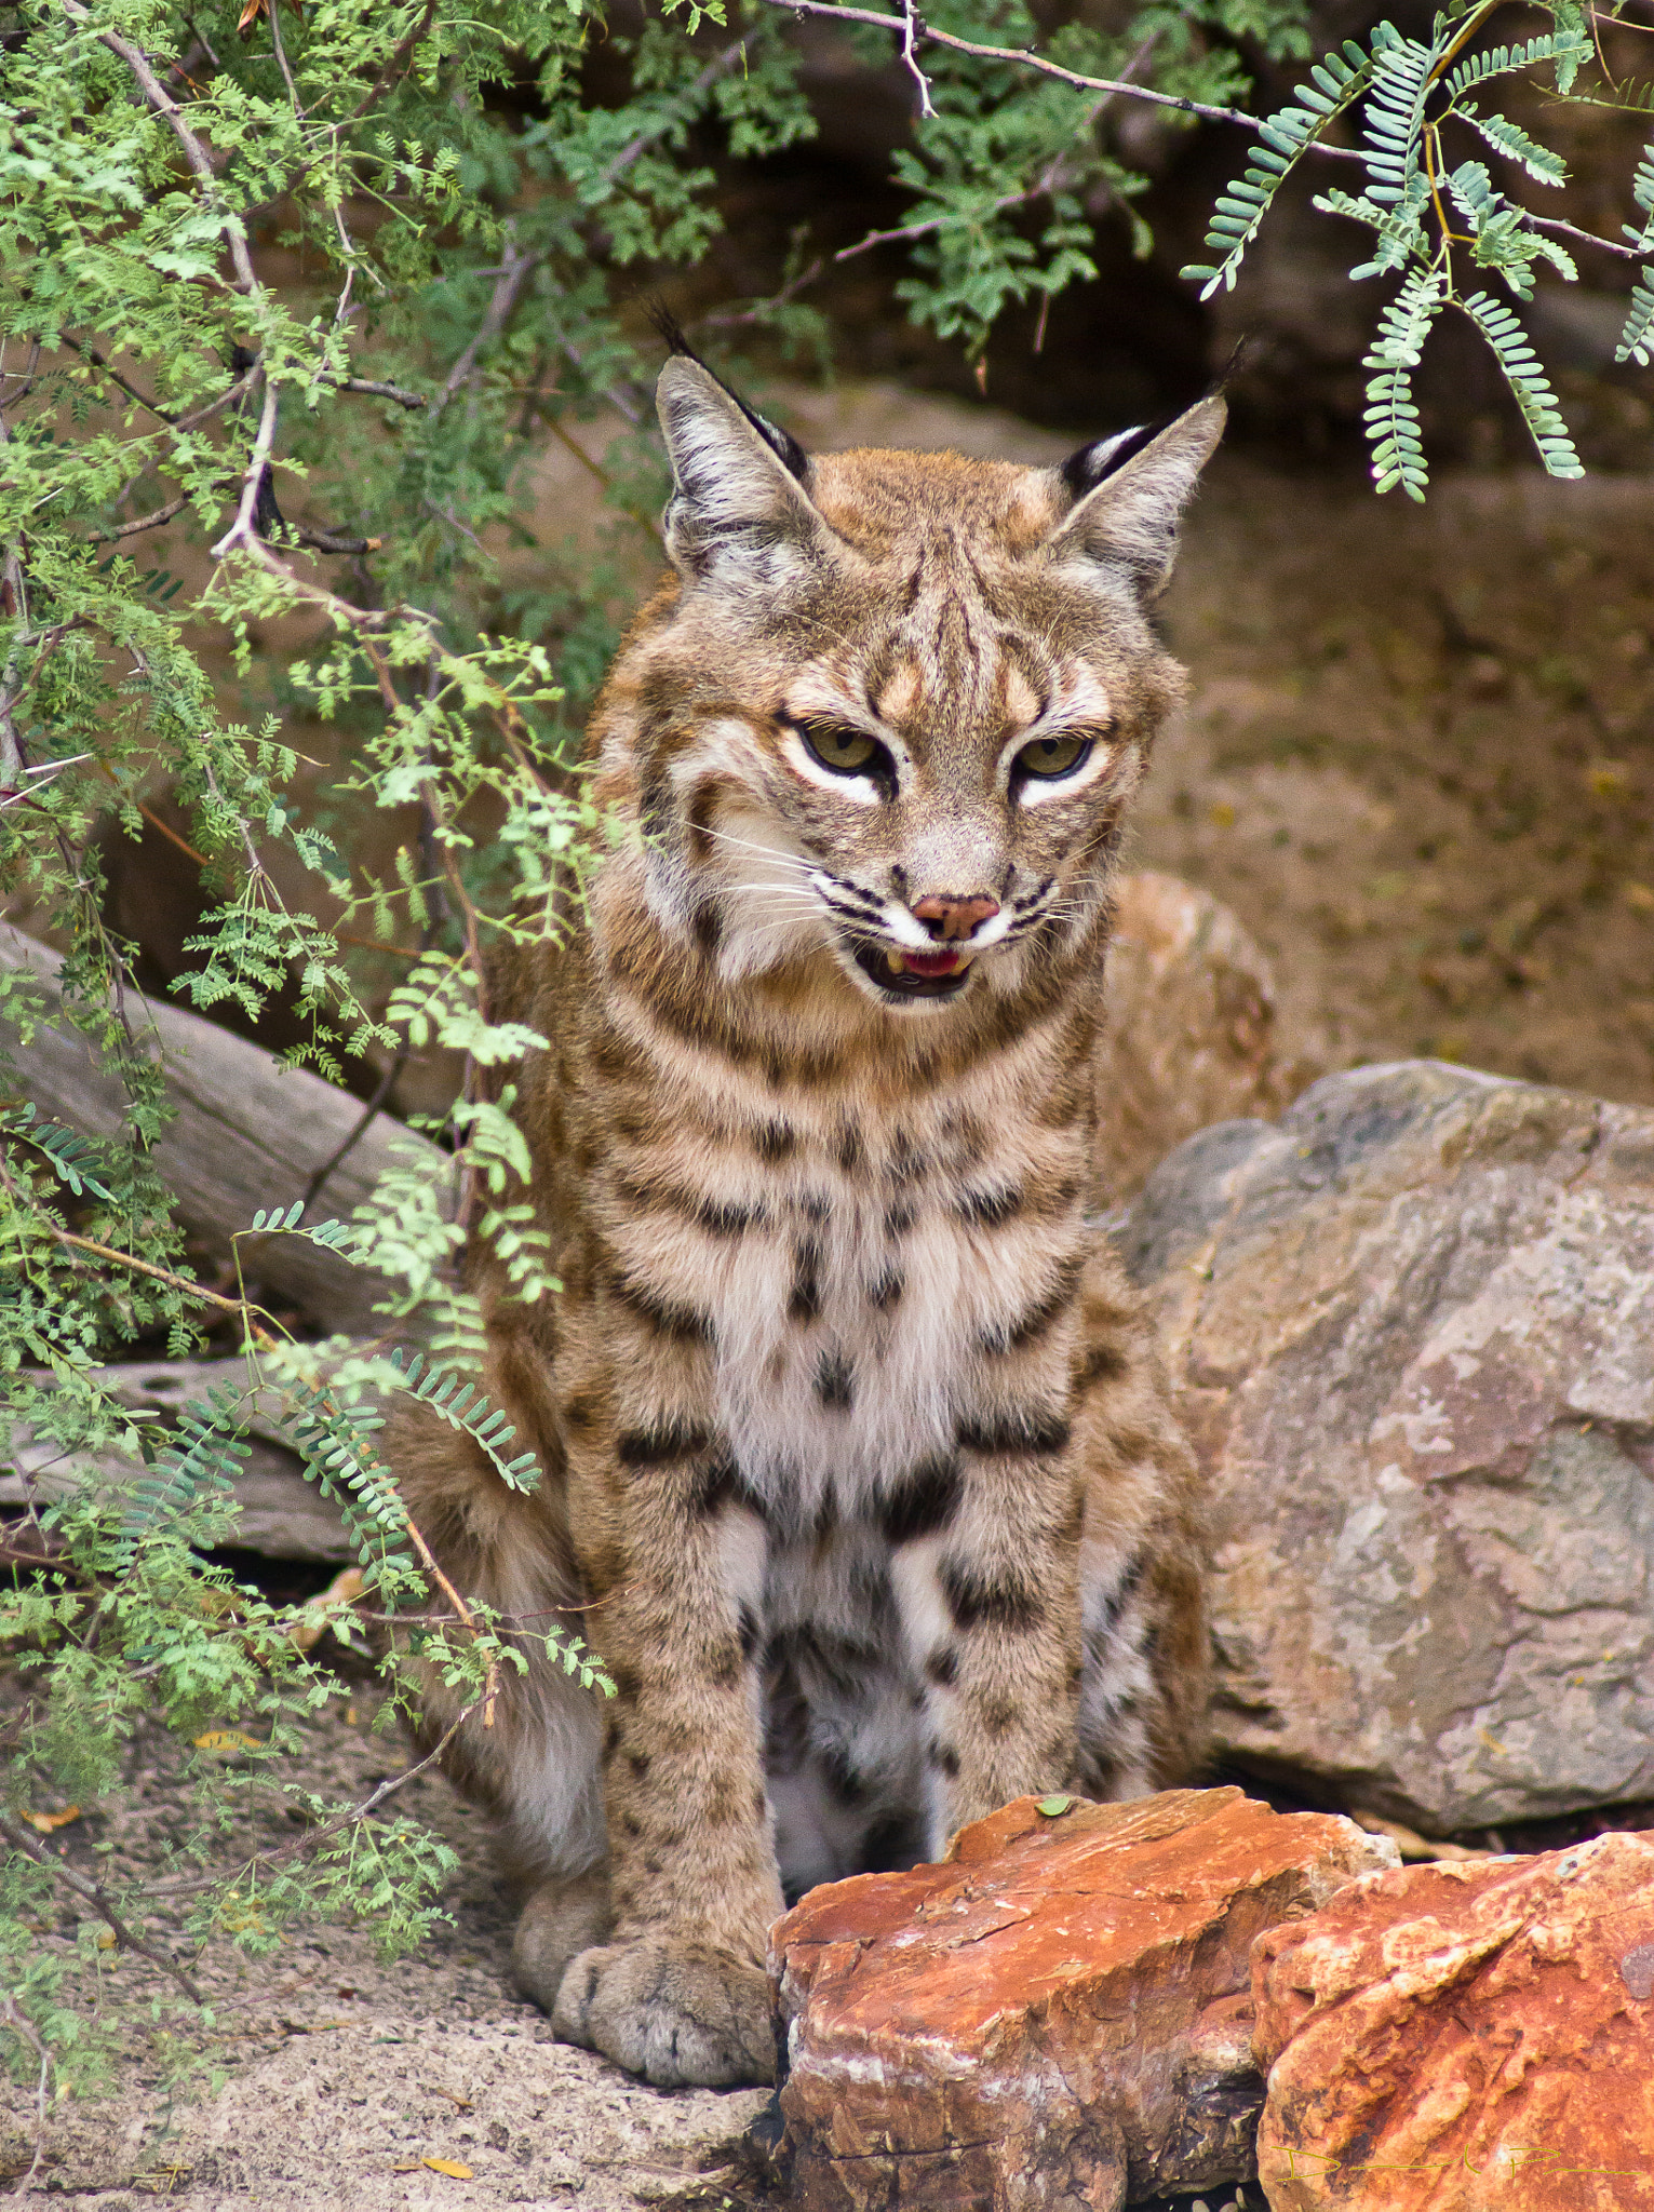
POLYGON ((1017 1798, 814 1889, 770 1940, 789 2203, 1112 2212, 1252 2172, 1252 1942, 1391 1849, 1238 1790, 1017 1798))

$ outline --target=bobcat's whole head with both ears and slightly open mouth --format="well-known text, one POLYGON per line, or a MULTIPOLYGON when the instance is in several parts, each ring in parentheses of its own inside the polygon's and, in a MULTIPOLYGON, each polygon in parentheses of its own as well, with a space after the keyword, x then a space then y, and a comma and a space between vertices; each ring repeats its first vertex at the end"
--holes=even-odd
POLYGON ((727 982, 825 960, 893 1013, 1015 993, 1092 929, 1179 697, 1145 602, 1221 403, 1064 469, 809 460, 683 358, 661 420, 681 586, 606 745, 657 920, 727 982))

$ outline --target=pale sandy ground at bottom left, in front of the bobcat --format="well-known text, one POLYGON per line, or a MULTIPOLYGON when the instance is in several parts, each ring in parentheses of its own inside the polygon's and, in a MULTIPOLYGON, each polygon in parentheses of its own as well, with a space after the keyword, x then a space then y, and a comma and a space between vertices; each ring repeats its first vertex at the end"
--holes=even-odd
MULTIPOLYGON (((367 1708, 356 1710, 354 1725, 343 1712, 314 1725, 310 1787, 365 1794, 400 1770, 400 1741, 371 1734, 367 1708)), ((210 1951, 197 1978, 217 2024, 195 2042, 221 2077, 217 2093, 203 2075, 192 2095, 168 2097, 155 2046, 133 2031, 117 2095, 53 2108, 31 2194, 69 2194, 97 2212, 137 2212, 153 2197, 203 2212, 632 2212, 685 2194, 719 2212, 750 2201, 730 2161, 765 2093, 663 2095, 557 2044, 509 1980, 513 1913, 486 1825, 436 1776, 411 1781, 398 1803, 458 1851, 442 1900, 449 1922, 396 1964, 360 1931, 334 1927, 294 1931, 265 1962, 210 1951)), ((55 1840, 86 1869, 108 1843, 117 1863, 164 1869, 181 1832, 172 1783, 150 1767, 135 1772, 117 1816, 93 1814, 55 1840)), ((142 1995, 159 1986, 142 1962, 111 1973, 142 1995)), ((0 2172, 13 2190, 33 2148, 29 2106, 24 2093, 7 2095, 0 2172)))

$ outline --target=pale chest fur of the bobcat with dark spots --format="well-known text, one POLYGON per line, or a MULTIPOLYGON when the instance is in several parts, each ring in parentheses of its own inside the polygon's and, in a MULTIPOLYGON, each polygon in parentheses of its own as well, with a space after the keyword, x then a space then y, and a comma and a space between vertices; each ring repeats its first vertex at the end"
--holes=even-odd
POLYGON ((710 1323, 719 1429, 778 1526, 862 1517, 953 1453, 1072 1265, 1079 1177, 993 1106, 798 1108, 741 1144, 685 1115, 648 1170, 677 1210, 617 1223, 628 1270, 710 1323))

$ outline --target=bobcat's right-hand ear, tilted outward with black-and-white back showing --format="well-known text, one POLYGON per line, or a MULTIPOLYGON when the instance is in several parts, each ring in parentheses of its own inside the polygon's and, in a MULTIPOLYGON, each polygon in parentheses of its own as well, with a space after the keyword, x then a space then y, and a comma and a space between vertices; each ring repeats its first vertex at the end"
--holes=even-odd
POLYGON ((1050 533, 1050 549, 1126 568, 1143 597, 1154 597, 1172 573, 1179 518, 1225 416, 1223 400, 1210 398, 1159 436, 1128 429, 1081 445, 1053 471, 1075 504, 1050 533))

